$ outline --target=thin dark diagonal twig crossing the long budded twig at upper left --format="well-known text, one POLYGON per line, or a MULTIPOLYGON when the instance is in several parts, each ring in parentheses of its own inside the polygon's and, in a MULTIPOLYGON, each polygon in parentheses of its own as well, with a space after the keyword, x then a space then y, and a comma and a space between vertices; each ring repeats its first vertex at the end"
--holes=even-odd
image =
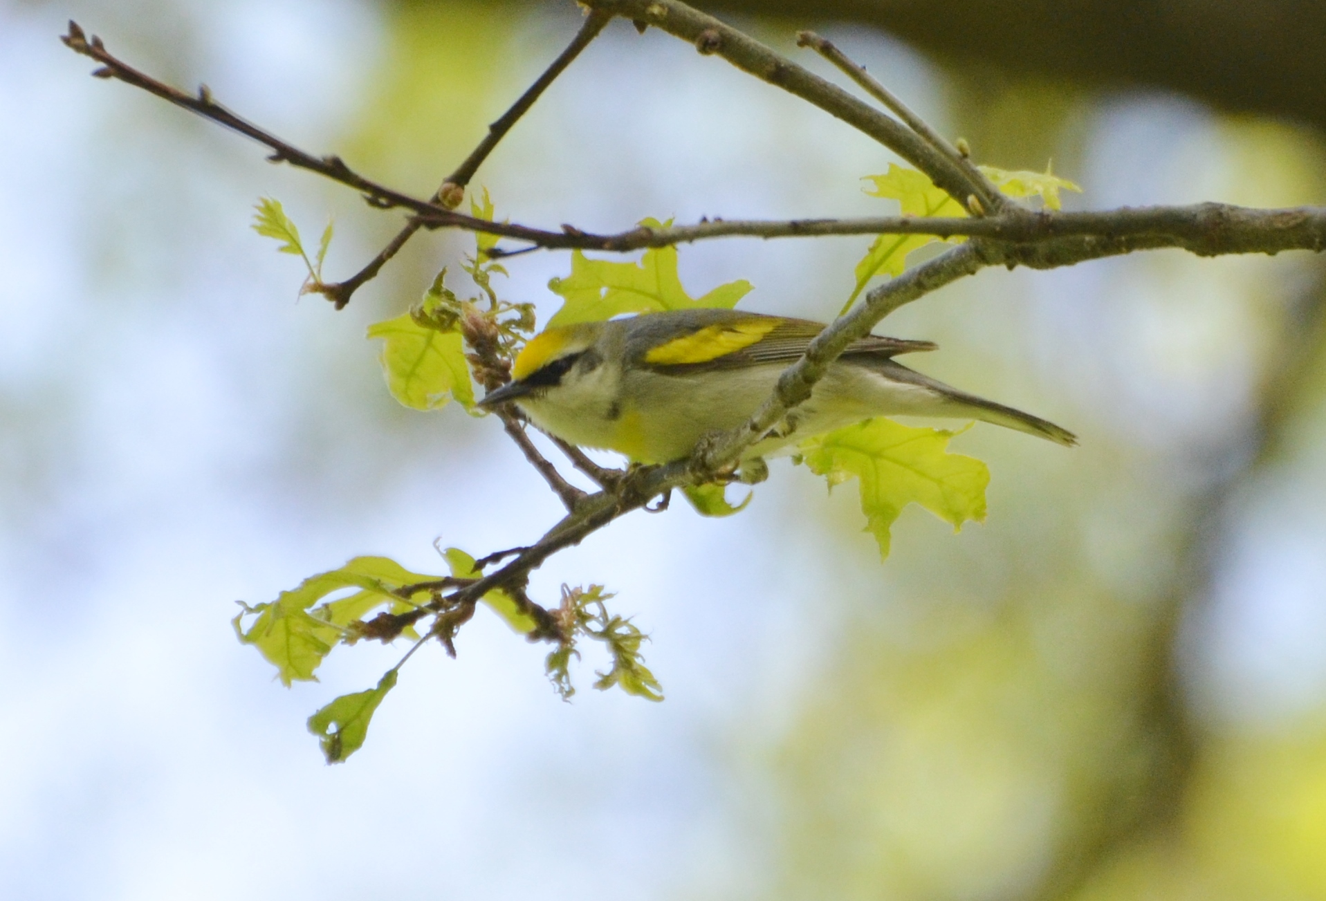
MULTIPOLYGON (((544 73, 534 81, 534 83, 530 85, 529 89, 520 95, 520 98, 511 106, 509 110, 507 110, 496 122, 488 126, 488 134, 484 135, 484 139, 481 142, 479 142, 479 146, 475 147, 475 150, 469 154, 469 156, 465 158, 465 160, 459 167, 456 167, 455 172, 452 172, 443 180, 436 193, 432 195, 434 203, 439 203, 447 207, 455 207, 457 203, 460 203, 460 195, 464 193, 464 188, 465 186, 469 184, 469 179, 475 176, 475 172, 479 171, 479 167, 483 166, 485 159, 488 159, 488 155, 492 154, 493 148, 497 147, 499 142, 501 142, 501 139, 507 136, 507 132, 512 130, 512 127, 516 125, 517 121, 520 121, 520 117, 522 117, 529 110, 529 107, 534 105, 534 102, 540 98, 540 95, 542 95, 542 93, 548 90, 548 86, 553 83, 557 76, 562 74, 562 72, 566 70, 566 66, 569 66, 575 60, 575 57, 579 56, 581 50, 589 46, 590 41, 598 37, 599 32, 603 30, 603 26, 607 25, 607 23, 611 21, 611 19, 613 16, 609 13, 597 11, 590 12, 589 17, 585 20, 585 24, 581 25, 579 32, 577 32, 575 37, 566 46, 566 49, 562 50, 556 60, 553 60, 553 62, 548 66, 548 69, 545 69, 544 73)), ((378 252, 378 256, 375 256, 373 260, 369 261, 369 265, 366 265, 363 269, 354 273, 342 282, 326 285, 322 293, 335 303, 335 309, 338 310, 342 309, 346 303, 350 302, 350 297, 365 282, 377 278, 378 273, 382 270, 382 266, 385 266, 389 260, 396 256, 400 248, 403 248, 406 242, 411 237, 414 237, 415 232, 418 232, 422 227, 423 227, 422 221, 416 219, 410 220, 410 223, 407 223, 406 227, 402 228, 396 233, 396 236, 391 238, 391 241, 389 241, 387 245, 382 248, 382 250, 378 252)))

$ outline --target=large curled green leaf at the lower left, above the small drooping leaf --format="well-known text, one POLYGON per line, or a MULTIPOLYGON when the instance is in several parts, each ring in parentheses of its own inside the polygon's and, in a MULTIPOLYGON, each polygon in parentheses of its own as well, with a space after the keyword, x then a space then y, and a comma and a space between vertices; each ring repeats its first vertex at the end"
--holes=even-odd
POLYGON ((297 588, 282 591, 274 602, 253 607, 245 604, 233 619, 235 633, 276 666, 286 688, 296 680, 317 681, 313 670, 346 633, 345 627, 350 621, 362 619, 382 604, 390 604, 391 613, 411 610, 408 602, 392 594, 394 590, 436 578, 411 572, 386 556, 357 556, 339 570, 309 576, 297 588), (317 602, 343 588, 359 591, 309 611, 317 602), (245 629, 244 617, 251 615, 257 619, 245 629))

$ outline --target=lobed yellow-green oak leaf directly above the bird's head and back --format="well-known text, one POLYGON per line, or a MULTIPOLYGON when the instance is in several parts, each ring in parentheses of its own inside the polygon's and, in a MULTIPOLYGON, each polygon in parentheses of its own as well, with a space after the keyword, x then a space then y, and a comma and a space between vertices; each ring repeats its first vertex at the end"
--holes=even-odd
MULTIPOLYGON (((668 223, 646 219, 646 228, 666 228, 668 223)), ((553 278, 549 290, 564 299, 549 326, 574 322, 598 322, 623 313, 660 313, 663 310, 691 310, 696 307, 736 306, 751 290, 745 280, 728 282, 700 298, 692 298, 682 288, 676 272, 676 248, 650 248, 639 262, 590 260, 579 250, 572 253, 572 274, 553 278)))

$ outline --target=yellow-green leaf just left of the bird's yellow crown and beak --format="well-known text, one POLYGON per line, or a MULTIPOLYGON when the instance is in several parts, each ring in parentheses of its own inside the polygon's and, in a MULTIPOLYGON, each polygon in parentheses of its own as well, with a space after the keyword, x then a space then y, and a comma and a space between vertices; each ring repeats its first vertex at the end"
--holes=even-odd
POLYGON ((369 326, 369 338, 381 338, 382 368, 391 396, 414 409, 438 409, 456 399, 475 405, 465 351, 459 331, 419 325, 408 313, 369 326))

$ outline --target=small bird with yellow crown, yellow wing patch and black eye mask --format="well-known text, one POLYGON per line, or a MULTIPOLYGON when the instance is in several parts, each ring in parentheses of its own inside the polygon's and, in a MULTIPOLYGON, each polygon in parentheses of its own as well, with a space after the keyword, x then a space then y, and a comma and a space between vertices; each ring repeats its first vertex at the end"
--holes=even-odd
MULTIPOLYGON (((483 399, 513 401, 557 437, 668 462, 711 432, 736 428, 800 358, 819 322, 736 310, 675 310, 546 329, 516 356, 513 380, 483 399)), ((875 416, 977 419, 1074 445, 1054 423, 951 388, 894 360, 928 341, 869 335, 821 379, 788 427, 753 445, 764 456, 875 416)))

